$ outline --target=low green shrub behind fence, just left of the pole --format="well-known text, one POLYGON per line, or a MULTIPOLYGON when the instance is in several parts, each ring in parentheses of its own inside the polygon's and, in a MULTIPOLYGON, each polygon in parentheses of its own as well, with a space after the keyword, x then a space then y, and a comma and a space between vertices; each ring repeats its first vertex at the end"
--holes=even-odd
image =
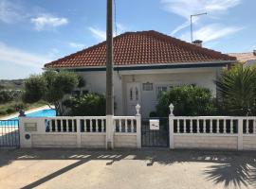
POLYGON ((70 109, 71 116, 101 116, 105 115, 106 100, 101 94, 84 94, 73 96, 64 101, 64 106, 70 109))

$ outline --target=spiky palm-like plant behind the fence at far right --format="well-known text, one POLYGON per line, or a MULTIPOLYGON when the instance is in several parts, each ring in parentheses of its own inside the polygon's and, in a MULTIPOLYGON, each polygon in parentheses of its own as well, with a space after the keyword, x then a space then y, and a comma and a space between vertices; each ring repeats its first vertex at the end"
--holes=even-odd
POLYGON ((216 81, 219 104, 229 115, 256 115, 256 67, 237 65, 216 81))

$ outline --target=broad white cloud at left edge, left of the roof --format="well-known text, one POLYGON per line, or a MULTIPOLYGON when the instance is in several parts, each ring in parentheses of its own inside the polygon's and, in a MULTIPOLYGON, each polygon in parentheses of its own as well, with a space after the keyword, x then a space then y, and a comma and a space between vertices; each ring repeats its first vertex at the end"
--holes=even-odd
POLYGON ((16 64, 25 67, 42 68, 50 59, 0 43, 0 63, 16 64))

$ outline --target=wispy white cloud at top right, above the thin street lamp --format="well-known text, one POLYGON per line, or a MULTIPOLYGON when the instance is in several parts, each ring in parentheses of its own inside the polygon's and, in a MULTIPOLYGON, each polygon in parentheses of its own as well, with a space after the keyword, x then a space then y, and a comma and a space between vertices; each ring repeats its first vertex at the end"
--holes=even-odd
MULTIPOLYGON (((227 12, 228 9, 239 5, 241 2, 242 0, 161 0, 165 9, 187 20, 180 26, 176 26, 172 35, 190 26, 192 14, 208 12, 210 17, 216 17, 217 14, 227 12)), ((194 17, 193 23, 196 23, 199 18, 194 17)))

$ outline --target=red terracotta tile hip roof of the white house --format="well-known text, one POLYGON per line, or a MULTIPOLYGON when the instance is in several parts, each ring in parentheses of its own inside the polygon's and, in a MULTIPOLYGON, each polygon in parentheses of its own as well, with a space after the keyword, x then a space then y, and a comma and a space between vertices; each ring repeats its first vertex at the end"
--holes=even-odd
MULTIPOLYGON (((236 60, 234 57, 186 43, 150 30, 126 32, 114 38, 115 65, 158 64, 236 60)), ((60 60, 46 63, 46 68, 104 66, 106 43, 86 48, 60 60)))

